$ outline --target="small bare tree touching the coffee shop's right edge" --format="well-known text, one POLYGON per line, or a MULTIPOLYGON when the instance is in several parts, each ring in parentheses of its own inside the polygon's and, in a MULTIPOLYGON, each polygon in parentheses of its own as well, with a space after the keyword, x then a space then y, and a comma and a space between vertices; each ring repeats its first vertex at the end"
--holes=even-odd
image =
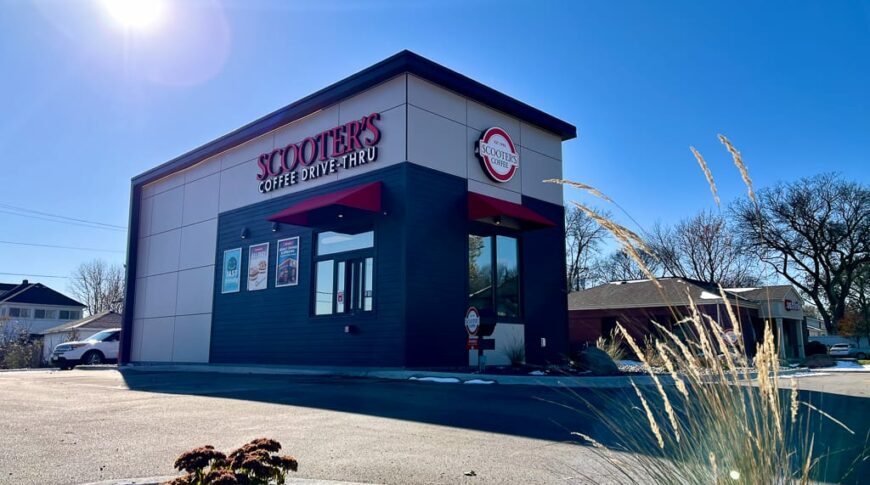
POLYGON ((565 212, 565 255, 568 291, 586 286, 607 231, 577 207, 565 212))

